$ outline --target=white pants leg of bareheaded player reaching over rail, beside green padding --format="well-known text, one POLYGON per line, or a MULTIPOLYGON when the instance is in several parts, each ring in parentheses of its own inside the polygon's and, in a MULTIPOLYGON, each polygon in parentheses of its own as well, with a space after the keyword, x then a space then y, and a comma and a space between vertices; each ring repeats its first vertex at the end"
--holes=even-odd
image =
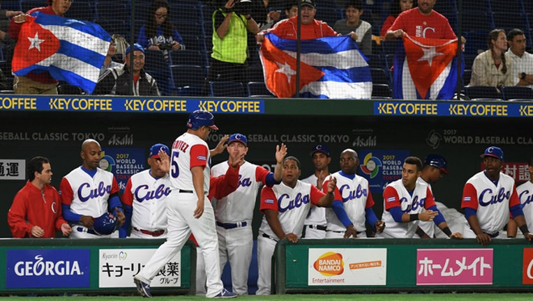
POLYGON ((272 256, 276 240, 257 236, 257 291, 255 295, 270 295, 272 286, 272 256))

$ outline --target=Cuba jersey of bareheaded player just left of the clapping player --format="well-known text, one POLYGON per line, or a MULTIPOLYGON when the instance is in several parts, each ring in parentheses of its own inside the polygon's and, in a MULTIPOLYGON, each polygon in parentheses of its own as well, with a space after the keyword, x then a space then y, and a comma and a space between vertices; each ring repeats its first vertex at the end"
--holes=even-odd
MULTIPOLYGON (((348 178, 344 173, 337 171, 332 175, 337 179, 334 201, 342 201, 344 210, 350 218, 356 231, 366 229, 366 208, 374 206, 374 199, 370 193, 368 180, 354 174, 354 178, 348 178)), ((326 178, 327 179, 327 178, 326 178)), ((323 192, 327 192, 329 180, 322 185, 323 192)), ((346 231, 346 227, 338 219, 333 208, 326 208, 326 220, 328 231, 346 231)))

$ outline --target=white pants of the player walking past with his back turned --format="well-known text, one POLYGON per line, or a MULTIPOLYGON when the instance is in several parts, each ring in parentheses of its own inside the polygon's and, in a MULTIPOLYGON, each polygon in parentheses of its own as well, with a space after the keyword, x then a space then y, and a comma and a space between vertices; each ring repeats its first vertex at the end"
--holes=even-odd
MULTIPOLYGON (((195 193, 179 193, 172 190, 167 199, 168 236, 152 258, 137 274, 142 281, 150 283, 163 266, 181 251, 193 232, 204 258, 207 278, 207 298, 213 298, 223 289, 220 280, 220 259, 218 258, 218 240, 215 230, 215 215, 207 197, 204 201, 204 213, 198 219, 194 217, 197 196, 195 193)), ((200 256, 200 254, 198 254, 200 256)))

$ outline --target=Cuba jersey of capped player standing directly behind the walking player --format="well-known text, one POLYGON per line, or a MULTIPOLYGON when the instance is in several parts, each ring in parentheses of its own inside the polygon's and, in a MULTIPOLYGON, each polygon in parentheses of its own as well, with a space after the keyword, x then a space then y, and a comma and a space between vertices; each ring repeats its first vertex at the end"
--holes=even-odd
MULTIPOLYGON (((216 164, 211 169, 211 175, 223 176, 229 167, 227 161, 216 164)), ((237 190, 216 201, 216 220, 223 223, 252 222, 257 192, 260 185, 266 185, 269 173, 264 167, 245 161, 239 168, 237 190)))

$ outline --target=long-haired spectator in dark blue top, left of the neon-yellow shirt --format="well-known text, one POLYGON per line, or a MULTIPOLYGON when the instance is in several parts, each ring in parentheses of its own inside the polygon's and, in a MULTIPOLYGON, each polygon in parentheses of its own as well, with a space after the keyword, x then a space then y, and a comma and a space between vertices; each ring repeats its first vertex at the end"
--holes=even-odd
POLYGON ((147 23, 139 31, 137 44, 145 49, 161 50, 168 56, 169 50, 185 49, 183 39, 170 23, 170 6, 165 0, 154 0, 150 6, 147 23))

